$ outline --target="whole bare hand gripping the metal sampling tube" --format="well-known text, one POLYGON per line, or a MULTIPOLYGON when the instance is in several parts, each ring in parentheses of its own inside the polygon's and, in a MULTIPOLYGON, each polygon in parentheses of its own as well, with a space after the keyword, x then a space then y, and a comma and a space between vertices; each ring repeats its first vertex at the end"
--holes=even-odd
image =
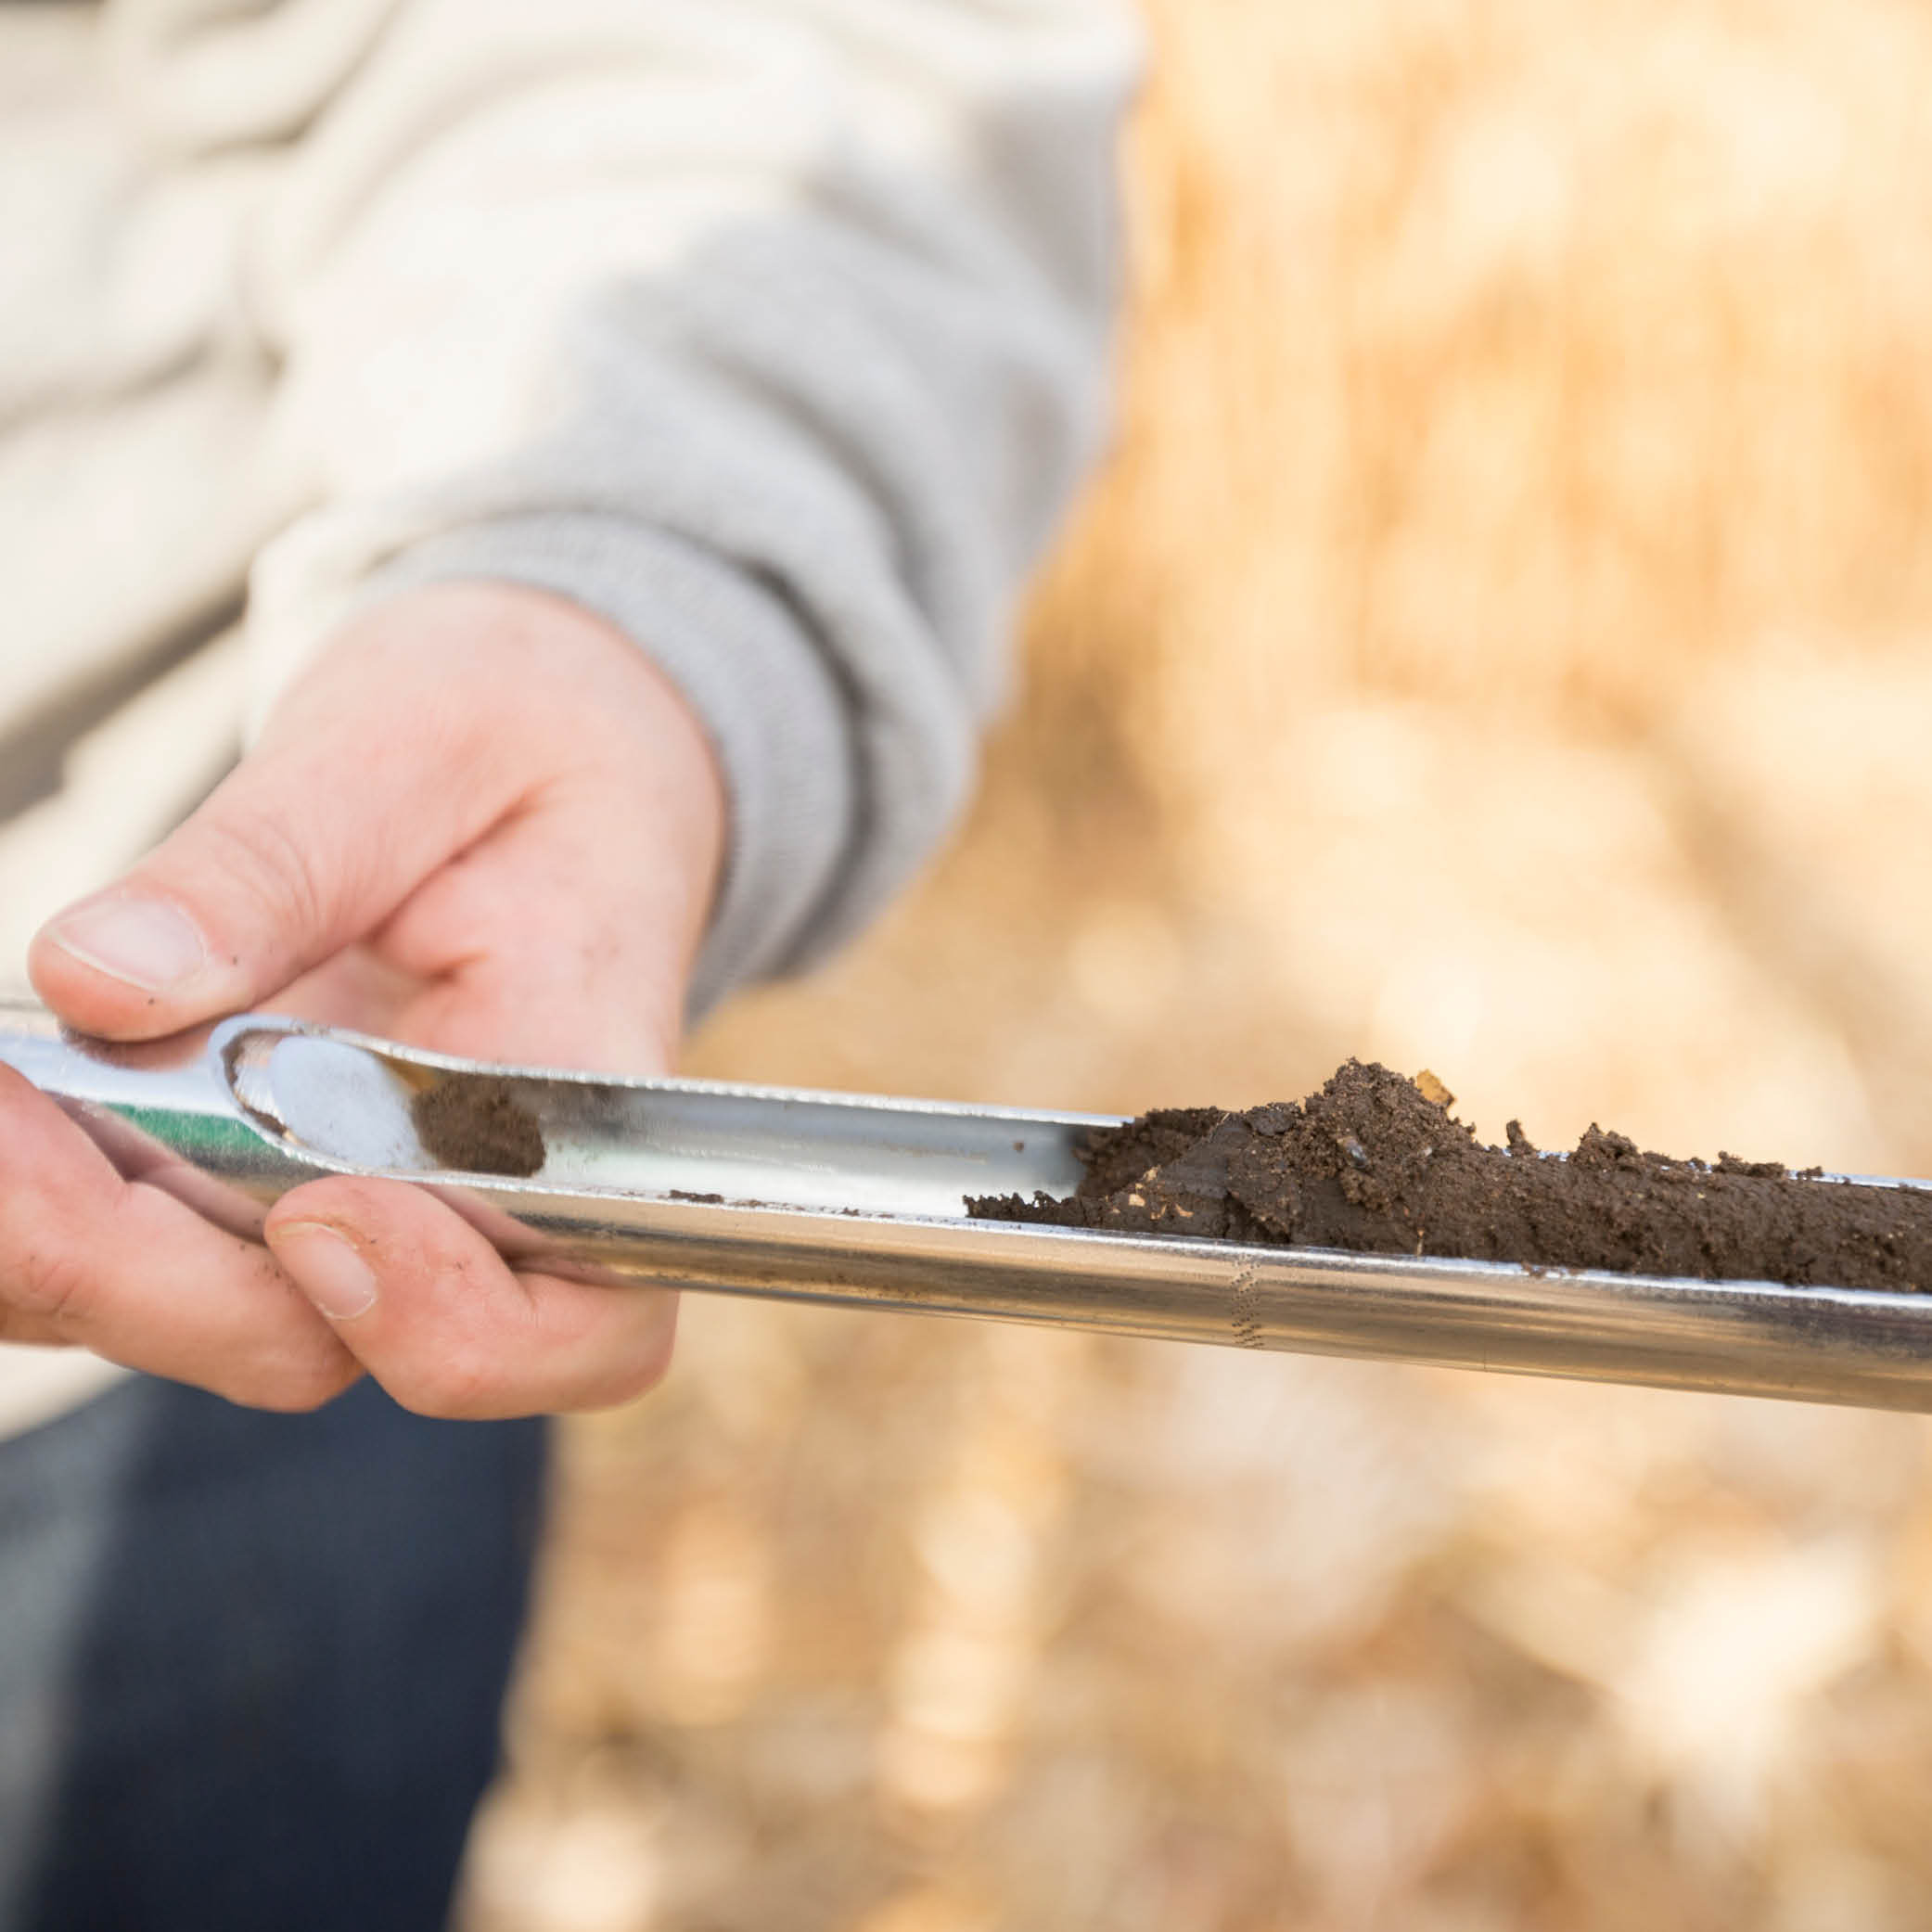
MULTIPOLYGON (((209 802, 35 939, 73 1028, 242 1009, 460 1053, 663 1072, 717 883, 723 784, 663 674, 537 591, 446 585, 346 628, 209 802)), ((0 1068, 0 1339, 79 1343, 265 1408, 359 1374, 437 1416, 649 1387, 676 1298, 512 1273, 406 1182, 330 1177, 240 1240, 0 1068)))

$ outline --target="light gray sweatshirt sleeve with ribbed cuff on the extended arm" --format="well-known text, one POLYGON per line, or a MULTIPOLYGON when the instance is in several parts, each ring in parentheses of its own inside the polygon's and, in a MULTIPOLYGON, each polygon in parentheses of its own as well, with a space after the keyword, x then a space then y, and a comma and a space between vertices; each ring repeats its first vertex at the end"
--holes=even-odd
POLYGON ((854 931, 960 806, 1103 433, 1136 58, 1099 0, 400 6, 247 261, 311 504, 261 701, 369 599, 558 591, 724 767, 694 1007, 854 931))

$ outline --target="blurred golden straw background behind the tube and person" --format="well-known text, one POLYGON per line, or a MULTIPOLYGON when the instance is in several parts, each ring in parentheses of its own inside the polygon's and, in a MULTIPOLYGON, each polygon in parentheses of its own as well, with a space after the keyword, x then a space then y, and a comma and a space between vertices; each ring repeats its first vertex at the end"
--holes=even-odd
MULTIPOLYGON (((1932 1173, 1932 14, 1151 15, 980 808, 694 1068, 1932 1173)), ((1932 1926, 1918 1420, 686 1310, 464 1932, 1932 1926)))

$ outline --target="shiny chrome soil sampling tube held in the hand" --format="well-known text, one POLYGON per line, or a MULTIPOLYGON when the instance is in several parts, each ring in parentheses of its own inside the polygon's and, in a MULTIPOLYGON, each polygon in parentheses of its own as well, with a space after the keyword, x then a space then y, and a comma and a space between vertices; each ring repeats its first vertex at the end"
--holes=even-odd
POLYGON ((1932 1294, 966 1219, 968 1194, 1070 1192, 1109 1117, 483 1066, 261 1014, 112 1047, 0 1003, 0 1063, 124 1175, 243 1235, 303 1180, 384 1175, 514 1265, 612 1289, 1932 1412, 1932 1294))

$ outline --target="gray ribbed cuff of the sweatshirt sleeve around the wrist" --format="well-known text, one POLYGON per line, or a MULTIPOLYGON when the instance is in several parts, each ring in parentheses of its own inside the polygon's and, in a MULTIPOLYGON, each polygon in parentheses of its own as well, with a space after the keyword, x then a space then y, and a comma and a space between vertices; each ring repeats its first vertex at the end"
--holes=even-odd
POLYGON ((804 620, 699 545, 591 512, 429 537, 375 572, 357 603, 477 580, 551 591, 616 624, 678 686, 711 738, 730 829, 692 974, 692 1018, 732 987, 781 972, 838 893, 858 800, 846 709, 804 620))

